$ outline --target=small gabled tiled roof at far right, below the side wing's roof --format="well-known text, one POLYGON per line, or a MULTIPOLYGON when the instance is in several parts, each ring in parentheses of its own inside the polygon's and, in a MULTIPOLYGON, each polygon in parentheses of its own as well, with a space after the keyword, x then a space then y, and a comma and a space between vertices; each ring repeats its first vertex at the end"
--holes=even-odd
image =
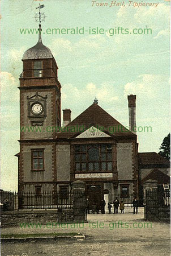
POLYGON ((158 184, 170 184, 170 177, 158 170, 157 168, 152 170, 146 177, 144 177, 144 179, 142 179, 142 183, 144 183, 144 181, 146 180, 157 180, 158 184))

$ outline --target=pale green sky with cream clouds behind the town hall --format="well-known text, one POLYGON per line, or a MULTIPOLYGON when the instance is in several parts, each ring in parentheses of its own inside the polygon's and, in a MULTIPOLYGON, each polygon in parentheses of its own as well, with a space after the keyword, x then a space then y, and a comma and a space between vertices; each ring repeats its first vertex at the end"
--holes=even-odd
MULTIPOLYGON (((97 1, 108 2, 110 1, 97 1)), ((140 1, 142 2, 142 1, 140 1)), ((155 1, 151 1, 152 3, 155 1)), ((42 42, 58 64, 62 109, 74 119, 92 104, 128 125, 127 95, 136 94, 139 152, 156 151, 169 133, 169 2, 155 7, 92 7, 90 0, 1 1, 1 187, 17 189, 19 152, 19 80, 22 56, 37 43, 36 7, 44 4, 42 42), (152 35, 46 35, 47 28, 151 28, 152 35)))

